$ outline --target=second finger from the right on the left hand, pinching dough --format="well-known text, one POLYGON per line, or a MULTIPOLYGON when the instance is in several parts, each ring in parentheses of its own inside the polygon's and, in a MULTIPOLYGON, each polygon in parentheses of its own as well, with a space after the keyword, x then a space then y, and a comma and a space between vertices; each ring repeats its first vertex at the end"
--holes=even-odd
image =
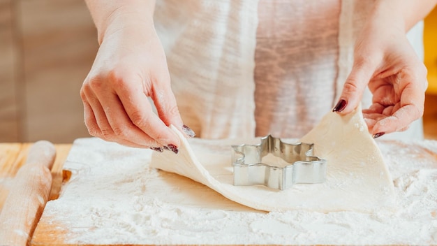
POLYGON ((142 86, 139 86, 142 81, 129 75, 125 80, 130 82, 115 88, 131 122, 160 145, 178 147, 177 135, 153 113, 142 86))

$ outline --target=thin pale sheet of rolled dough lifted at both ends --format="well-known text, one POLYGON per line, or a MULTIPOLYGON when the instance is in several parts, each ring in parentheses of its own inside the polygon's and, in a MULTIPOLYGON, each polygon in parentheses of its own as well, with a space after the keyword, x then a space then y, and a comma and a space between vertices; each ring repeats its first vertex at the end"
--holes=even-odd
POLYGON ((315 143, 315 154, 327 159, 327 181, 295 184, 279 191, 262 185, 232 185, 230 145, 259 143, 258 139, 186 140, 182 133, 179 154, 154 153, 151 166, 184 175, 207 185, 232 201, 265 211, 353 210, 372 212, 392 207, 394 187, 380 150, 367 131, 361 108, 341 117, 327 113, 301 140, 315 143))

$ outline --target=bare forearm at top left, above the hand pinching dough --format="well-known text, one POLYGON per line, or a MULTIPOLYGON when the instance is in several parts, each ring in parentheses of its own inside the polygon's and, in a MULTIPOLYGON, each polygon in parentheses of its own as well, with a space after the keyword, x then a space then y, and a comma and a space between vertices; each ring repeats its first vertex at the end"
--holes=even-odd
POLYGON ((85 0, 98 31, 98 43, 105 35, 129 25, 153 27, 155 0, 85 0))

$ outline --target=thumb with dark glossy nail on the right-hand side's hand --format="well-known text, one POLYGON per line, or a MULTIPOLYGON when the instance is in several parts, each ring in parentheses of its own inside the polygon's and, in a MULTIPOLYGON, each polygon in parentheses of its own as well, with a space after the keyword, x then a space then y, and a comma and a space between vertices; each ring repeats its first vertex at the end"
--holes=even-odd
POLYGON ((343 85, 343 91, 339 101, 332 109, 334 112, 346 115, 351 113, 360 104, 364 89, 372 78, 375 66, 368 61, 355 61, 346 82, 343 85))

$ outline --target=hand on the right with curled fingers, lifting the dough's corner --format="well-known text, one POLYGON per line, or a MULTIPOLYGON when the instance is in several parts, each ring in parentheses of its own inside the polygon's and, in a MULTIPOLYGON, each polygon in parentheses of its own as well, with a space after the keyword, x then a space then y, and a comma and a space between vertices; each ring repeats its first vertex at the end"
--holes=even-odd
MULTIPOLYGON (((427 13, 433 2, 429 1, 429 6, 422 6, 422 12, 418 12, 427 13)), ((403 1, 403 8, 394 8, 397 3, 391 4, 390 0, 376 4, 357 36, 353 68, 334 107, 341 114, 352 112, 369 86, 372 104, 363 113, 374 137, 404 131, 423 115, 427 68, 406 38, 406 29, 420 17, 406 15, 407 11, 403 10, 413 10, 406 3, 415 4, 403 1)))

